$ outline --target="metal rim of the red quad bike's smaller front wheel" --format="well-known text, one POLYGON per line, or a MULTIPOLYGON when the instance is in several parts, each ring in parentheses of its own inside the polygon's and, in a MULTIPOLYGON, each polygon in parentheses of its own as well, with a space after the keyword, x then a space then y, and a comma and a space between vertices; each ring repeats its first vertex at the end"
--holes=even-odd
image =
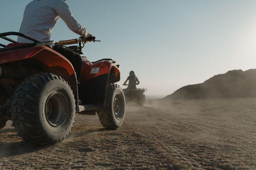
POLYGON ((113 108, 116 119, 121 119, 124 114, 124 100, 121 94, 115 96, 113 108))

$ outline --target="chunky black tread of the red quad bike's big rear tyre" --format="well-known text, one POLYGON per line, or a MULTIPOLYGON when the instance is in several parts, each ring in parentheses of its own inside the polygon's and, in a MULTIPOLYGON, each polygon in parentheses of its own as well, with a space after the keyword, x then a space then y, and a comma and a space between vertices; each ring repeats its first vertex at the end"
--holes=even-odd
POLYGON ((24 79, 16 88, 15 94, 11 99, 10 113, 13 126, 24 141, 45 146, 61 142, 67 136, 59 140, 50 139, 43 133, 39 121, 37 121, 37 107, 35 106, 38 105, 39 95, 44 85, 53 79, 65 82, 60 76, 51 73, 36 73, 24 79))

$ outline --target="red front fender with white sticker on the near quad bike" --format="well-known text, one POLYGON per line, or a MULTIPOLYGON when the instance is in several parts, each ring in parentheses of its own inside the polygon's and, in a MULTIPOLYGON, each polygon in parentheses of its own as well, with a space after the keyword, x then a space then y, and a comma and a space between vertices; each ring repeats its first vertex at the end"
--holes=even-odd
POLYGON ((104 60, 104 61, 99 61, 99 62, 92 64, 90 61, 88 61, 88 59, 86 57, 83 58, 82 59, 82 69, 80 72, 81 83, 84 83, 84 82, 86 82, 94 77, 97 77, 99 75, 110 73, 110 69, 112 67, 116 70, 115 71, 116 75, 120 74, 120 71, 117 68, 117 66, 115 64, 113 64, 111 61, 104 60), (97 73, 92 73, 91 72, 92 69, 96 69, 96 70, 99 69, 99 71, 98 72, 95 71, 97 73))

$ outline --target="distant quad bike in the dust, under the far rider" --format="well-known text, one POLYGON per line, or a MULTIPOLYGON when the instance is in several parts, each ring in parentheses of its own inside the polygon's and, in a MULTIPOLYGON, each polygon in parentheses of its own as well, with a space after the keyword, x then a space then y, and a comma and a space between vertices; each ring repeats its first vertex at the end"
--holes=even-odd
MULTIPOLYGON (((123 84, 127 85, 127 84, 123 84)), ((128 85, 129 87, 129 85, 128 85)), ((147 89, 144 88, 137 88, 137 89, 123 89, 124 96, 125 96, 125 102, 134 102, 137 103, 137 105, 143 106, 146 102, 146 96, 143 94, 147 89)))

